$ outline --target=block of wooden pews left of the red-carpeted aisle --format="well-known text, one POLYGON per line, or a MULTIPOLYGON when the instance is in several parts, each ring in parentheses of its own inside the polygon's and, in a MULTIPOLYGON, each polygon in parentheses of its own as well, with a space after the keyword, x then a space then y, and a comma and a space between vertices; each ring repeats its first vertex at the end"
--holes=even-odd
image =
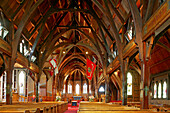
POLYGON ((30 113, 63 113, 67 105, 68 103, 66 102, 16 103, 14 105, 0 106, 0 113, 24 113, 28 111, 30 113))

